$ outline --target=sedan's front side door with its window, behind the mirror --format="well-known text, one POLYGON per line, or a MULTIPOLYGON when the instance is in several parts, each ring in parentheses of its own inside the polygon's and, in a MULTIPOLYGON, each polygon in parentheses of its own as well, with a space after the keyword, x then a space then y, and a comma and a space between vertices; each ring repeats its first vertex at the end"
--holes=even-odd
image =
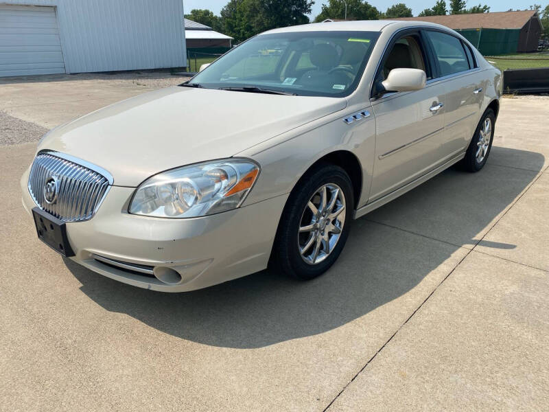
POLYGON ((422 69, 427 78, 432 79, 432 65, 425 39, 419 31, 401 32, 388 45, 371 98, 377 137, 369 201, 414 181, 439 163, 444 128, 444 86, 433 83, 418 91, 378 91, 379 83, 391 69, 422 69))

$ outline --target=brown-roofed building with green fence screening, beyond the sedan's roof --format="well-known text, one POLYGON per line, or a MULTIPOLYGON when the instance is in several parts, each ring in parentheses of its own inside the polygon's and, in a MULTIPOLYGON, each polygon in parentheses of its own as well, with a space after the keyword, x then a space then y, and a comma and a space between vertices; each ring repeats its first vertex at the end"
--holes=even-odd
POLYGON ((535 52, 543 30, 536 10, 403 17, 392 20, 429 21, 445 25, 460 32, 484 56, 535 52))

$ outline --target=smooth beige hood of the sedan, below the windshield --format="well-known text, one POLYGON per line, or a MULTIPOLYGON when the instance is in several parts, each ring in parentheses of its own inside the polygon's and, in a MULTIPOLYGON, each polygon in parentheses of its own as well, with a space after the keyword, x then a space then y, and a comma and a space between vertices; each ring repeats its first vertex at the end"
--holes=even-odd
POLYGON ((38 150, 98 165, 114 184, 137 186, 178 166, 231 157, 340 111, 344 99, 169 87, 59 126, 38 150))

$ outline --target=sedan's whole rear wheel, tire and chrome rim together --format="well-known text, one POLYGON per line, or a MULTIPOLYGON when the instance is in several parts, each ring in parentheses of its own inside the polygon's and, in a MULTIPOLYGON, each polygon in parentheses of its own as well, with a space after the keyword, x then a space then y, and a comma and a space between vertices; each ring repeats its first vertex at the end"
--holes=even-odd
POLYGON ((465 153, 465 158, 463 158, 460 163, 463 170, 474 173, 484 168, 492 148, 494 129, 495 113, 493 113, 493 110, 489 108, 484 112, 482 119, 480 119, 480 122, 475 130, 475 134, 473 135, 471 143, 465 153), (489 122, 489 133, 486 133, 487 122, 489 122), (489 141, 486 141, 487 138, 489 138, 489 141), (479 150, 481 150, 480 155, 479 150))

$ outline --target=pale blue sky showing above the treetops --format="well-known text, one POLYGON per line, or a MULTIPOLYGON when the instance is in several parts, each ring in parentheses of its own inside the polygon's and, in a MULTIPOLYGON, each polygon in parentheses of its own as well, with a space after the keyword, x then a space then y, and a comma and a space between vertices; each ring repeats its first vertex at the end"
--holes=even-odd
MULTIPOLYGON (((229 0, 183 0, 183 7, 185 8, 185 13, 190 12, 192 9, 195 8, 202 8, 202 9, 209 9, 214 14, 219 15, 219 12, 223 8, 223 6, 228 3, 229 0)), ((320 9, 322 8, 323 3, 327 3, 327 0, 315 0, 313 5, 313 11, 312 11, 312 18, 314 18, 317 14, 320 13, 320 9)), ((405 3, 408 7, 412 8, 412 13, 414 16, 417 16, 419 12, 426 8, 431 8, 434 3, 436 3, 436 0, 390 0, 390 1, 379 1, 379 0, 368 0, 368 2, 371 5, 375 5, 377 10, 385 11, 390 5, 393 5, 395 3, 405 3)), ((446 1, 447 4, 449 4, 449 1, 446 1)), ((468 0, 467 1, 467 7, 472 7, 474 5, 478 5, 478 3, 487 4, 490 6, 491 12, 506 12, 510 8, 513 9, 526 9, 531 4, 534 3, 541 3, 543 7, 545 8, 547 0, 540 1, 540 0, 530 0, 529 2, 526 1, 526 3, 523 3, 521 1, 517 0, 468 0)))

